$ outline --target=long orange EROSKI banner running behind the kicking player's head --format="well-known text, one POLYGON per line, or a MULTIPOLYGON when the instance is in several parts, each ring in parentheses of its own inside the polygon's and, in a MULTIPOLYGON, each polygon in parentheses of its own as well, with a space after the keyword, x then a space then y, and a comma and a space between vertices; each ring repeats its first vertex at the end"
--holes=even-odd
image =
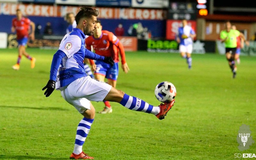
MULTIPOLYGON (((64 17, 68 12, 75 14, 79 6, 53 6, 36 4, 0 3, 0 15, 15 15, 16 9, 20 9, 27 16, 64 17)), ((99 10, 100 19, 124 19, 124 20, 165 20, 166 11, 162 9, 133 9, 133 8, 105 8, 96 7, 99 10)))

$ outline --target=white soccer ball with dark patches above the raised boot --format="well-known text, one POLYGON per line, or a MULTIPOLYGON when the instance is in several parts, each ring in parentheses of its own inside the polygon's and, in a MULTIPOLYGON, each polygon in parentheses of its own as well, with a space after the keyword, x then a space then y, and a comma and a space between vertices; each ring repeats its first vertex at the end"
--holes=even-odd
POLYGON ((175 98, 176 88, 170 82, 161 82, 156 85, 155 96, 160 102, 168 103, 175 98))

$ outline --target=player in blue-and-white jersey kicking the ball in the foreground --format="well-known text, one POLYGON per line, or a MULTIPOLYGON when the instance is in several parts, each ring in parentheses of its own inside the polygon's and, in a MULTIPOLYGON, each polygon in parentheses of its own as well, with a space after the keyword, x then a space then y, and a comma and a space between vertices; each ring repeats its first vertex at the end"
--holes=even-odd
POLYGON ((46 97, 50 96, 55 89, 60 90, 62 97, 84 116, 77 127, 75 146, 70 159, 93 159, 82 150, 95 117, 95 109, 90 101, 117 102, 134 111, 151 113, 158 119, 164 119, 174 103, 172 100, 169 103, 152 106, 86 75, 83 65, 84 57, 114 65, 111 57, 100 56, 85 49, 85 35, 93 34, 98 14, 99 11, 90 7, 80 8, 76 14, 77 26, 64 36, 59 50, 53 55, 50 79, 42 89, 46 89, 44 92, 46 97))

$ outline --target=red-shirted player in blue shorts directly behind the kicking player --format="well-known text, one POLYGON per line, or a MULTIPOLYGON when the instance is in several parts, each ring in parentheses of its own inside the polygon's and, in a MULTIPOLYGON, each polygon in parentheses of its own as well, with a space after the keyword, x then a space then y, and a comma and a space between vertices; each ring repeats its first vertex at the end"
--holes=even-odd
MULTIPOLYGON (((90 60, 92 71, 94 76, 99 81, 104 82, 105 77, 108 79, 108 84, 116 87, 116 80, 118 76, 118 62, 120 52, 122 69, 125 73, 128 73, 129 67, 125 61, 124 46, 121 44, 119 39, 112 33, 106 30, 102 30, 101 22, 98 20, 96 23, 96 29, 92 36, 85 39, 86 48, 91 50, 91 46, 96 54, 101 56, 111 56, 115 61, 115 64, 111 67, 109 64, 97 60, 95 63, 90 60)), ((108 101, 104 101, 105 107, 99 113, 106 114, 112 113, 112 108, 108 101)))

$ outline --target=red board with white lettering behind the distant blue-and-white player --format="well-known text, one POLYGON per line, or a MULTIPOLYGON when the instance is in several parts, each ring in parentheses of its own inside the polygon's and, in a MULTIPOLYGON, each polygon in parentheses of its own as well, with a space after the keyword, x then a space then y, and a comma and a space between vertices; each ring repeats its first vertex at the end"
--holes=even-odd
MULTIPOLYGON (((178 28, 182 26, 182 20, 166 20, 166 39, 174 40, 178 32, 178 28)), ((196 21, 188 20, 188 25, 196 32, 196 21)))

